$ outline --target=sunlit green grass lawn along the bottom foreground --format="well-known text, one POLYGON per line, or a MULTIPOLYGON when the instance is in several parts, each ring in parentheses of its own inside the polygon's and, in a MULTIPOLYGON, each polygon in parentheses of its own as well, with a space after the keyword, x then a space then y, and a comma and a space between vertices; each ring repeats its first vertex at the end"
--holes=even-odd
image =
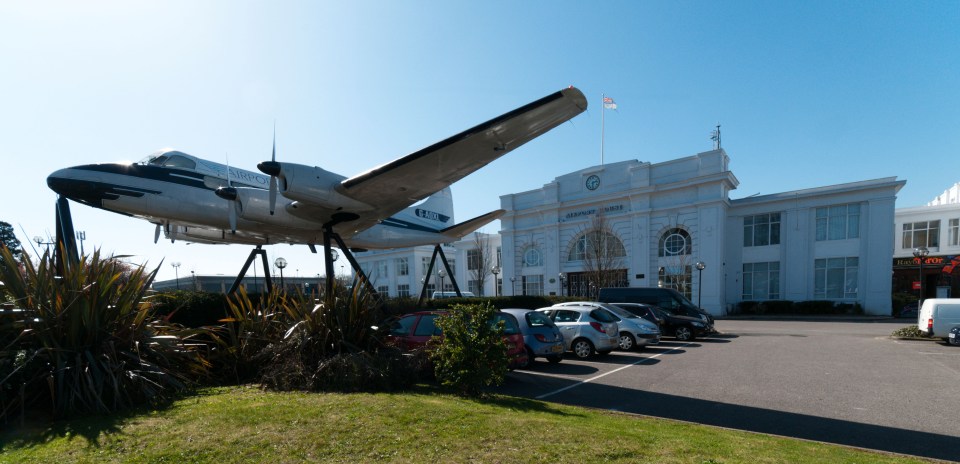
POLYGON ((929 462, 497 396, 217 388, 161 411, 6 424, 0 463, 929 462))

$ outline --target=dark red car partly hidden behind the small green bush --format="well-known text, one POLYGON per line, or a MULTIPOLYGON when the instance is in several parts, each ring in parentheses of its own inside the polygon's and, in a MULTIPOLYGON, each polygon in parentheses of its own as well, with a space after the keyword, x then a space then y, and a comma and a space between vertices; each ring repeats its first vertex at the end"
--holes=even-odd
MULTIPOLYGON (((447 314, 444 311, 419 311, 404 314, 390 324, 387 334, 387 343, 400 348, 402 351, 411 351, 423 348, 433 337, 443 336, 436 319, 447 314)), ((503 321, 503 341, 507 344, 507 357, 510 358, 510 369, 526 366, 529 363, 527 350, 523 346, 523 334, 520 333, 520 324, 512 314, 497 312, 494 323, 503 321)))

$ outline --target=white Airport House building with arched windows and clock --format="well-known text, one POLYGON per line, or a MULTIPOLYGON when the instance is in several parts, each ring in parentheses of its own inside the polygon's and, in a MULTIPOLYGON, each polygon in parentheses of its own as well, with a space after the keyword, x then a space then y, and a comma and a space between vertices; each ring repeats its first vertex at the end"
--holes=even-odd
MULTIPOLYGON (((729 161, 722 149, 661 163, 623 161, 502 196, 507 213, 496 251, 497 285, 487 287, 490 275, 483 294, 591 298, 602 286, 665 286, 716 315, 758 300, 832 300, 890 314, 891 225, 905 181, 889 177, 732 200, 739 181, 729 161), (595 281, 598 269, 612 277, 595 281)), ((470 242, 467 237, 446 253, 462 290, 480 285, 468 282, 471 249, 477 253, 470 242)), ((357 259, 387 295, 417 296, 431 251, 378 251, 357 259), (397 268, 398 259, 407 267, 397 268), (407 274, 398 276, 398 269, 407 274)))

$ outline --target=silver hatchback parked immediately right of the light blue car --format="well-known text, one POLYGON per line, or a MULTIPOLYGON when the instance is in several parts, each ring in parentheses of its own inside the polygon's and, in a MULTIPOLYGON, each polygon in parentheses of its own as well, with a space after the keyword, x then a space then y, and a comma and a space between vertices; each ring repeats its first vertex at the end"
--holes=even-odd
POLYGON ((563 334, 563 346, 580 359, 607 355, 620 345, 617 320, 609 311, 586 306, 549 306, 546 314, 563 334))

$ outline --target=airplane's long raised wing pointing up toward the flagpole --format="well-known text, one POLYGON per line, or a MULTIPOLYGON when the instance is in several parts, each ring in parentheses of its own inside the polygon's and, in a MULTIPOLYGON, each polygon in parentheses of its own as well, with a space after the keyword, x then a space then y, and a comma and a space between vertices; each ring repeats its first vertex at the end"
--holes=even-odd
POLYGON ((403 158, 344 180, 341 193, 384 216, 462 179, 587 109, 570 87, 491 119, 403 158))

